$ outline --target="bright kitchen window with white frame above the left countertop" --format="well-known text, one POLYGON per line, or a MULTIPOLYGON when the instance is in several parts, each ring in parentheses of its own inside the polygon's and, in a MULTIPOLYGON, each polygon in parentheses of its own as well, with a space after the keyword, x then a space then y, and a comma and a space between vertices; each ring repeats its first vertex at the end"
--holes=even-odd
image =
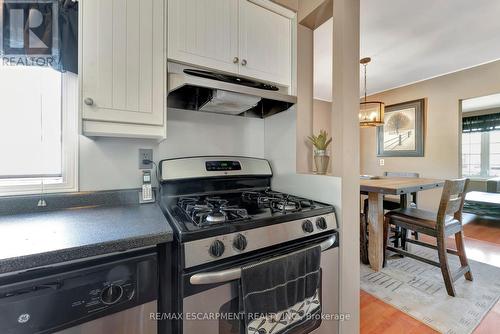
POLYGON ((0 66, 0 194, 76 190, 77 76, 0 66))

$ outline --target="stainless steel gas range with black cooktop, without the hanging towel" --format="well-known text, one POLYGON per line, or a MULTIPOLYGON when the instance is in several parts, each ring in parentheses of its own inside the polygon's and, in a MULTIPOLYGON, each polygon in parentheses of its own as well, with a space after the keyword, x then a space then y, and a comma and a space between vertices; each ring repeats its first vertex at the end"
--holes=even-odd
MULTIPOLYGON (((241 268, 321 246, 321 317, 301 333, 337 333, 338 232, 331 205, 274 191, 267 160, 160 162, 161 206, 175 231, 173 333, 245 333, 241 268)), ((272 327, 279 328, 279 327, 272 327)), ((273 329, 274 330, 274 329, 273 329)), ((255 328, 255 334, 282 331, 255 328)))

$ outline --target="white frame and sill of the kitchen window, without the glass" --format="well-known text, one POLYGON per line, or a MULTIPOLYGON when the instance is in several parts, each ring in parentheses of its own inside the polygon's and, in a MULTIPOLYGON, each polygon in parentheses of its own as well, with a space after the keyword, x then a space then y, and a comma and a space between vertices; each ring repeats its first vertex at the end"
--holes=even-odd
POLYGON ((62 176, 0 179, 0 196, 78 191, 78 76, 62 74, 62 176))

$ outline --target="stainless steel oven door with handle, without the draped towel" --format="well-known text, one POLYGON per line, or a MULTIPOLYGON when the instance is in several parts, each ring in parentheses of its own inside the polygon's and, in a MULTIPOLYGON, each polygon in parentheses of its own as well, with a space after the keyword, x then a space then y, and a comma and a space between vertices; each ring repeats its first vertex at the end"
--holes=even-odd
MULTIPOLYGON (((183 334, 242 334, 243 322, 239 314, 239 273, 241 266, 262 258, 281 256, 314 244, 326 244, 321 254, 321 305, 319 327, 303 333, 335 334, 338 322, 331 320, 338 314, 338 235, 323 235, 301 244, 283 246, 266 254, 256 254, 217 268, 185 273, 183 298, 183 334)), ((261 333, 256 333, 261 334, 261 333)), ((264 334, 264 333, 262 333, 264 334)), ((265 333, 273 334, 273 333, 265 333)))

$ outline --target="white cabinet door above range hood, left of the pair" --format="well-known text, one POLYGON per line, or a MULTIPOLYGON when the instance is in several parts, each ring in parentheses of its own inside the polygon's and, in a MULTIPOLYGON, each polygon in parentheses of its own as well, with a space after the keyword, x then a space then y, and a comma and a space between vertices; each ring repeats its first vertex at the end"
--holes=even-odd
POLYGON ((169 0, 168 57, 238 73, 238 1, 169 0))

